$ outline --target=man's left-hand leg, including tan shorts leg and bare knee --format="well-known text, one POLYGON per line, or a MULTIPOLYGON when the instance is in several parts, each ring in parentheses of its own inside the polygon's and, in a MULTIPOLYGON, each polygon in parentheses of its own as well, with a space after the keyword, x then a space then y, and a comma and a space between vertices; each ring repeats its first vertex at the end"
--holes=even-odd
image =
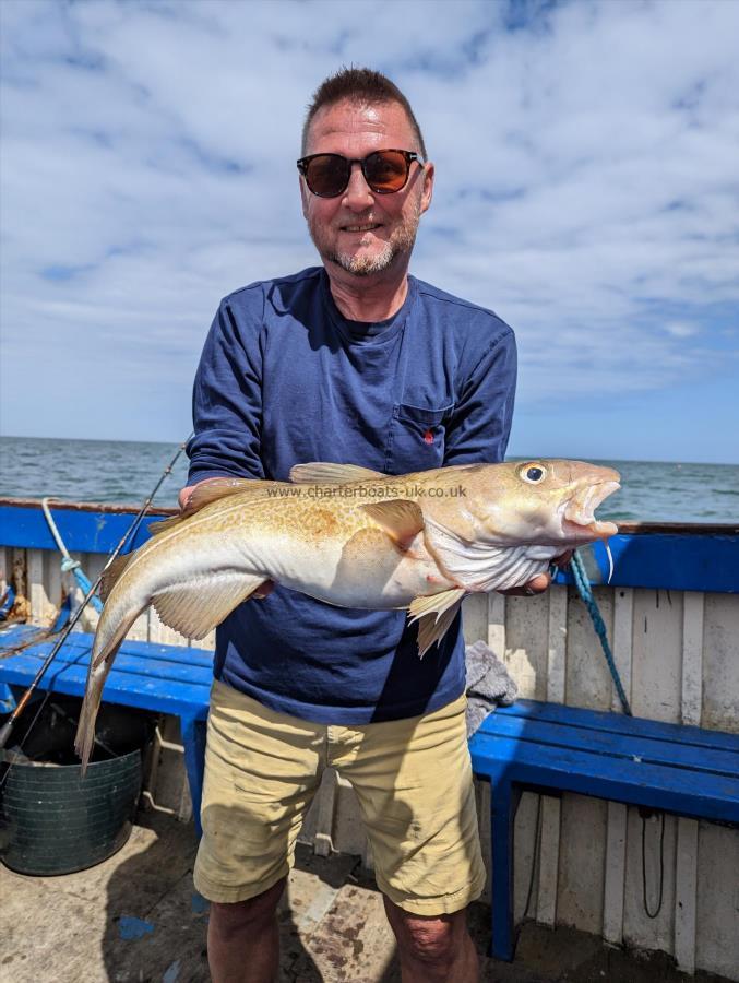
POLYGON ((271 983, 275 909, 323 769, 325 731, 215 683, 194 883, 211 902, 215 983, 271 983))

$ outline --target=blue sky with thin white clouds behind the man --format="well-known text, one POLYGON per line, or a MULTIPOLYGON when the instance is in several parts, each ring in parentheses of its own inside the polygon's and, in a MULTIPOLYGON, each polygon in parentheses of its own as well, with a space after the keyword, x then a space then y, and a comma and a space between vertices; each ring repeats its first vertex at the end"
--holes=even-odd
POLYGON ((412 272, 520 353, 509 453, 739 462, 738 0, 0 0, 0 433, 177 441, 220 297, 319 262, 312 92, 389 74, 412 272))

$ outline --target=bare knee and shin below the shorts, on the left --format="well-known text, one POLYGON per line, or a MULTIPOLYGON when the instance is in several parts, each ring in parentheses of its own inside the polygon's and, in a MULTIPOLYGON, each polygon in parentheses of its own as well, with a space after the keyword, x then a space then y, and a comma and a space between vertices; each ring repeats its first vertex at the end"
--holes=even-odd
POLYGON ((207 961, 213 983, 273 983, 279 963, 276 910, 284 877, 273 887, 231 904, 211 903, 207 961))

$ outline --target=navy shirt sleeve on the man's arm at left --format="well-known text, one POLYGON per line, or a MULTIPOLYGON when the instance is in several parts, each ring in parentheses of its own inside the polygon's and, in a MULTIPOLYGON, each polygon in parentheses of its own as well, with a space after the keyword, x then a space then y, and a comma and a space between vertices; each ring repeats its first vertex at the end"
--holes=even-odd
POLYGON ((213 319, 192 392, 189 485, 224 475, 264 477, 262 319, 257 313, 226 298, 213 319))

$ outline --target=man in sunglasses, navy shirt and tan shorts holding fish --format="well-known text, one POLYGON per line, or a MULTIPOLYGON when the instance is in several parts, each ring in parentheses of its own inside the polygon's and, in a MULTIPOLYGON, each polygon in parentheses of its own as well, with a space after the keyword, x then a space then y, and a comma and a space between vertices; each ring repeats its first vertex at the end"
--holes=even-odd
MULTIPOLYGON (((182 500, 207 478, 285 481, 306 461, 404 474, 502 460, 513 333, 408 276, 434 170, 405 97, 365 69, 327 79, 298 168, 323 265, 222 301, 182 500)), ((465 909, 485 872, 461 619, 420 662, 402 612, 331 607, 278 584, 266 594, 217 632, 195 867, 214 981, 274 978, 275 907, 326 766, 357 792, 404 981, 477 979, 465 909)))

